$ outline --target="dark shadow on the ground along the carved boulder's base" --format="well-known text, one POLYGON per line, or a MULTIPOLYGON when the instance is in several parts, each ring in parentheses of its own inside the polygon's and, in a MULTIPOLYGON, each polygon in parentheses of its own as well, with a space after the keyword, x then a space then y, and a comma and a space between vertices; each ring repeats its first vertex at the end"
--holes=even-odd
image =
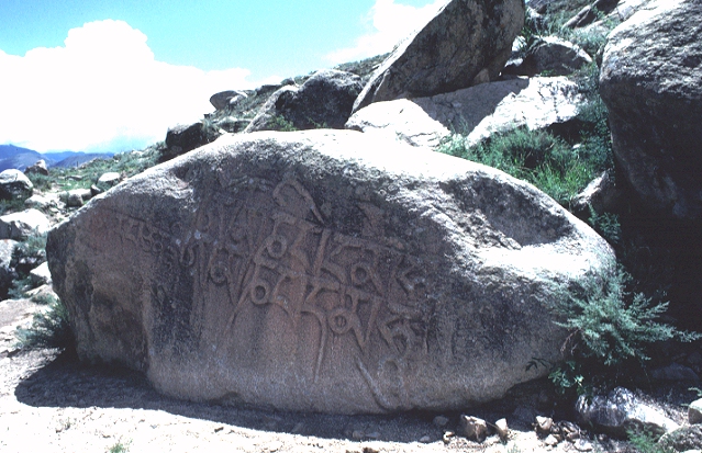
MULTIPOLYGON (((258 431, 405 443, 416 442, 424 435, 428 435, 432 441, 441 439, 446 430, 456 429, 455 422, 459 415, 444 412, 443 415, 452 421, 448 426, 439 428, 433 423, 436 414, 426 412, 333 416, 182 401, 158 394, 141 373, 112 366, 87 365, 68 353, 62 353, 21 381, 14 394, 20 403, 33 407, 161 410, 258 431)), ((504 400, 491 404, 490 408, 477 408, 469 412, 495 421, 512 415, 520 403, 528 404, 526 399, 531 398, 531 394, 522 390, 520 395, 509 395, 504 400)), ((531 430, 528 422, 520 422, 515 418, 511 421, 510 428, 531 430)))

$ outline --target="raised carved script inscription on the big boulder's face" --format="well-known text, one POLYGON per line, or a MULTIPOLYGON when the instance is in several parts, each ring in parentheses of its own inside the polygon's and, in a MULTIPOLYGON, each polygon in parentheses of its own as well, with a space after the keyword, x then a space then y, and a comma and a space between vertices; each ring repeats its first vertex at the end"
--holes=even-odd
MULTIPOLYGON (((226 350, 227 332, 236 329, 244 310, 280 309, 293 330, 309 317, 320 332, 310 346, 314 381, 330 343, 345 338, 356 349, 349 353, 352 366, 378 405, 408 406, 406 359, 427 353, 424 275, 416 258, 379 237, 383 212, 359 204, 359 215, 368 222, 354 237, 327 227, 311 194, 294 179, 275 186, 264 181, 234 194, 222 185, 222 192, 201 203, 188 227, 158 228, 116 215, 119 228, 112 230, 123 244, 154 256, 159 272, 192 276, 192 326, 208 308, 202 294, 226 294, 230 308, 218 350, 226 350), (388 388, 390 381, 394 388, 388 388)), ((161 288, 159 299, 178 299, 161 288)))

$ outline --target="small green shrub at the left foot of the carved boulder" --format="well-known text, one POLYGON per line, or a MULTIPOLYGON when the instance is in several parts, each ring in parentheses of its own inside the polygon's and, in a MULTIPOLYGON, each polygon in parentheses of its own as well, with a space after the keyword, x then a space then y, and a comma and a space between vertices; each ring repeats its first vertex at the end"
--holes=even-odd
POLYGON ((15 337, 22 349, 71 347, 74 336, 68 325, 68 309, 59 299, 51 302, 45 312, 34 315, 29 328, 18 328, 15 337))

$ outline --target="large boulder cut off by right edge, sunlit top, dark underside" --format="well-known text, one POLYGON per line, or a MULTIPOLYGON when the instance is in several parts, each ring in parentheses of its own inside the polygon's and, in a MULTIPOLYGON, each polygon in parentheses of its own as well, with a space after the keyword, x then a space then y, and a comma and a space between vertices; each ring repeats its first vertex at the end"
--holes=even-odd
POLYGON ((600 92, 617 162, 645 205, 702 219, 702 3, 653 1, 619 25, 600 92))

